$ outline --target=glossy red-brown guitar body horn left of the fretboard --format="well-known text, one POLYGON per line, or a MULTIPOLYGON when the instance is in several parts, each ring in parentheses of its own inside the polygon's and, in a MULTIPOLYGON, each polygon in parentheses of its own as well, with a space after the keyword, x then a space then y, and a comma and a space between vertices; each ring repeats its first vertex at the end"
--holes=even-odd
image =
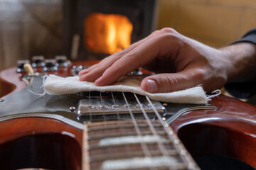
POLYGON ((81 169, 82 130, 48 118, 1 122, 0 167, 81 169))

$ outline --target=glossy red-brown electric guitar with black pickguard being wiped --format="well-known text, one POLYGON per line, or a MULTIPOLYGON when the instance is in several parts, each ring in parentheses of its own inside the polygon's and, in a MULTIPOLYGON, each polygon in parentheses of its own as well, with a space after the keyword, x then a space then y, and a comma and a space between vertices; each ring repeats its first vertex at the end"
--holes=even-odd
MULTIPOLYGON (((35 71, 67 77, 91 64, 35 71)), ((208 105, 160 103, 112 91, 38 96, 41 75, 16 69, 0 72, 1 169, 200 169, 194 159, 215 155, 256 167, 248 103, 223 95, 208 105)))

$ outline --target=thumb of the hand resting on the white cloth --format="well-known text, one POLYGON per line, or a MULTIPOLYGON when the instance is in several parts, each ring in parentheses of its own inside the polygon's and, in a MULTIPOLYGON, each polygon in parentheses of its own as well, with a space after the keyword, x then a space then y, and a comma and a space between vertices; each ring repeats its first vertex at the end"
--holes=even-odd
POLYGON ((155 74, 142 80, 141 88, 151 94, 179 91, 197 86, 190 73, 155 74))

